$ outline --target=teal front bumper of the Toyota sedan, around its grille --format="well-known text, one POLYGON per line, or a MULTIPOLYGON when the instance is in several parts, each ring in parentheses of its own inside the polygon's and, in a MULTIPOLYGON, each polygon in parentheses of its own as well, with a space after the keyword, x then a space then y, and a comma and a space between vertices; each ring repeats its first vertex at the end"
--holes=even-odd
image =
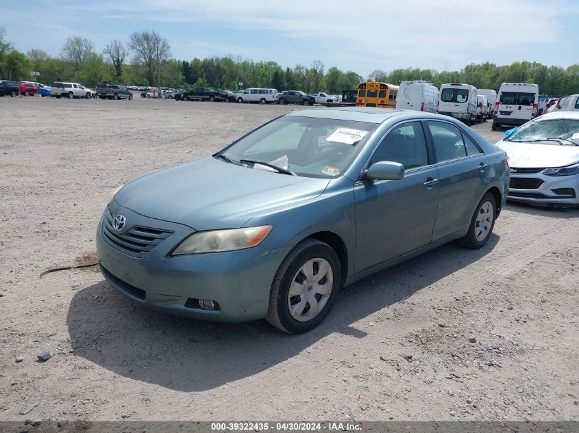
MULTIPOLYGON (((113 202, 114 203, 114 202, 113 202)), ((269 309, 271 283, 291 250, 265 250, 260 246, 232 252, 172 257, 171 250, 195 231, 182 224, 139 215, 111 205, 122 213, 127 226, 145 226, 173 233, 158 246, 139 254, 127 254, 104 235, 103 213, 97 230, 97 256, 108 283, 147 309, 220 322, 262 319, 269 309), (197 300, 217 302, 218 309, 201 309, 197 300)))

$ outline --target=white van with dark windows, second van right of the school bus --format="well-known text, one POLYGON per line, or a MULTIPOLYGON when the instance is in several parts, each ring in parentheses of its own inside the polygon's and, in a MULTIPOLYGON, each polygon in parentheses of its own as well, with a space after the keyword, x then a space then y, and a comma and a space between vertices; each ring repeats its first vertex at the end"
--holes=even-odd
POLYGON ((467 124, 476 122, 478 92, 475 86, 461 83, 447 83, 441 86, 438 113, 463 120, 467 124))

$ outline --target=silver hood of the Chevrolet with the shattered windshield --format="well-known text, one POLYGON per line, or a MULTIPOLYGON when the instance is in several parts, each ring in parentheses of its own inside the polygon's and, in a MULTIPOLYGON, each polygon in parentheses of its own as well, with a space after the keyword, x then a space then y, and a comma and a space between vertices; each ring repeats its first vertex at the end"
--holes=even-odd
POLYGON ((516 168, 564 167, 579 161, 579 146, 505 141, 496 145, 508 155, 509 165, 516 168))

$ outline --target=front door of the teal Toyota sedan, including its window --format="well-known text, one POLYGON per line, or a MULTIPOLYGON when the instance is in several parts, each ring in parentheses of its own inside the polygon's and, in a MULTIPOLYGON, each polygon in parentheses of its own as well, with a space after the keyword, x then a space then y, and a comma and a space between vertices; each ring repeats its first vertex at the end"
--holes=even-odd
POLYGON ((356 272, 432 241, 439 175, 429 163, 421 122, 402 122, 389 131, 368 166, 378 161, 402 163, 406 172, 398 181, 362 180, 354 185, 356 272))

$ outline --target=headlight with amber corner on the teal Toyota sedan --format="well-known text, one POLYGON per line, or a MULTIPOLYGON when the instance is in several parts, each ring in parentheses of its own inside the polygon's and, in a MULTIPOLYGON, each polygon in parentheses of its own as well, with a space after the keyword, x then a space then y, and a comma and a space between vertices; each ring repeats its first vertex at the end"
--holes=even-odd
POLYGON ((187 237, 173 252, 180 254, 199 254, 201 252, 223 252, 243 250, 259 245, 273 226, 232 228, 228 230, 200 231, 187 237))

